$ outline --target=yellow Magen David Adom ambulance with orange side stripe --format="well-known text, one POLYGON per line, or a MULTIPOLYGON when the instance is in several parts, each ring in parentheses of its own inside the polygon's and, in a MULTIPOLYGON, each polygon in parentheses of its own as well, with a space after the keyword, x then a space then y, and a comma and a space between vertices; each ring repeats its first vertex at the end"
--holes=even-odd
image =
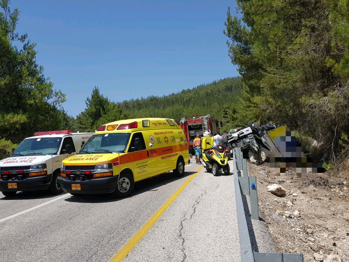
POLYGON ((64 159, 57 181, 72 195, 126 197, 134 182, 170 170, 183 176, 188 163, 188 141, 176 120, 120 120, 100 126, 78 154, 64 159))

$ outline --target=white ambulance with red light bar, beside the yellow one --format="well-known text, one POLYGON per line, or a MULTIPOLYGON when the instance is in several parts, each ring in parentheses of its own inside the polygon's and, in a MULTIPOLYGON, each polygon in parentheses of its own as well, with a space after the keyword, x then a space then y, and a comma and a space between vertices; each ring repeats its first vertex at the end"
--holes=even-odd
POLYGON ((57 183, 62 160, 75 155, 94 133, 71 130, 36 132, 25 138, 8 158, 0 160, 0 191, 14 196, 17 191, 62 190, 57 183))

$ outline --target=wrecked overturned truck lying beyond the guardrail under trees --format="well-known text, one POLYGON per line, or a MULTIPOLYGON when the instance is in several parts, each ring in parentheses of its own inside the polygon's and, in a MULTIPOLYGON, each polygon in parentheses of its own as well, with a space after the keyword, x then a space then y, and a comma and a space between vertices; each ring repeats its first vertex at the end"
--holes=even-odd
POLYGON ((248 127, 232 134, 228 139, 231 148, 240 147, 244 158, 261 163, 266 157, 281 159, 293 157, 297 139, 291 136, 287 125, 277 126, 273 122, 258 126, 252 121, 248 127), (291 148, 292 147, 292 148, 291 148), (295 147, 295 148, 293 148, 295 147))

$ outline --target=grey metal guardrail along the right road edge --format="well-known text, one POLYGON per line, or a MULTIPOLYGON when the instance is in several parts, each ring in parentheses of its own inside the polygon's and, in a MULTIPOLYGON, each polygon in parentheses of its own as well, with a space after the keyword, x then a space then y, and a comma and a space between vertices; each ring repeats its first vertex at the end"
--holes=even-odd
POLYGON ((251 218, 259 219, 257 180, 248 176, 247 162, 239 147, 233 150, 233 171, 236 213, 238 220, 240 254, 242 262, 303 262, 303 254, 260 253, 252 251, 250 234, 248 233, 242 195, 250 195, 251 218))

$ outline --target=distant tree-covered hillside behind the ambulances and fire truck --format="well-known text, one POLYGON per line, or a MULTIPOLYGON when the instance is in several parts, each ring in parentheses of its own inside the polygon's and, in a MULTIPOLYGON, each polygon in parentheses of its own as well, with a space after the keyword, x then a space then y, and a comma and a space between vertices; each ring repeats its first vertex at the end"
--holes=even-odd
POLYGON ((147 98, 114 102, 95 87, 86 100, 86 109, 72 119, 73 130, 96 130, 98 126, 125 118, 168 117, 180 119, 184 116, 211 114, 229 128, 229 109, 240 96, 240 78, 225 78, 202 84, 192 89, 164 96, 150 95, 147 98))

